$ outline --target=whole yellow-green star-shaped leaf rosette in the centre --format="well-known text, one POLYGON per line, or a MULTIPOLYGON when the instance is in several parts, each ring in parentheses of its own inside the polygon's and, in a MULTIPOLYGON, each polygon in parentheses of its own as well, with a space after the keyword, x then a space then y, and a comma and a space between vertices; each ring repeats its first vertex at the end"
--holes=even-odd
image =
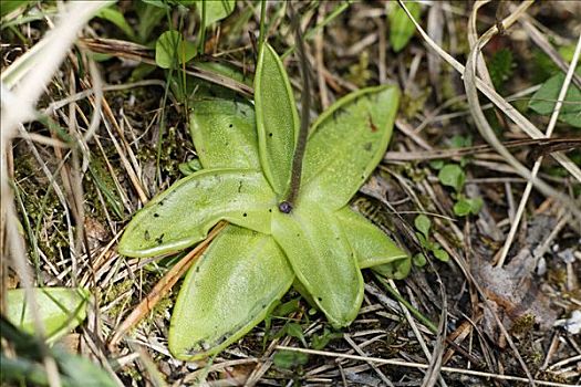
POLYGON ((169 349, 180 359, 235 343, 293 282, 341 327, 359 313, 361 269, 395 279, 409 272, 408 254, 349 208, 387 148, 397 87, 357 91, 320 116, 290 213, 278 206, 289 188, 298 114, 288 75, 268 43, 259 53, 255 91, 253 112, 250 103, 196 96, 190 132, 205 169, 152 200, 120 242, 126 255, 152 257, 199 242, 221 219, 236 224, 184 280, 169 328, 169 349))

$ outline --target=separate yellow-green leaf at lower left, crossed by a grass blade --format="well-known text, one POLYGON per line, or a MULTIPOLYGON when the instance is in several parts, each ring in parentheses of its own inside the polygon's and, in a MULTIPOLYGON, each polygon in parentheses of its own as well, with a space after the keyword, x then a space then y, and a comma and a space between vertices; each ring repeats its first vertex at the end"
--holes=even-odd
MULTIPOLYGON (((84 289, 37 287, 37 313, 44 324, 44 334, 49 342, 66 334, 86 317, 90 293, 84 289)), ((7 292, 7 318, 28 333, 34 333, 34 317, 25 300, 23 289, 7 292)))

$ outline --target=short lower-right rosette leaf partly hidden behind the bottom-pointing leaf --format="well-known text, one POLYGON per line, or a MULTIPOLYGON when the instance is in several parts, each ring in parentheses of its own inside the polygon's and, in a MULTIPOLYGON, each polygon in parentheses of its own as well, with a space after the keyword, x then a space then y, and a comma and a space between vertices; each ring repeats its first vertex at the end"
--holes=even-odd
MULTIPOLYGON (((361 269, 392 264, 401 260, 409 260, 407 253, 400 249, 382 230, 373 226, 365 217, 349 207, 334 212, 349 244, 355 252, 361 269)), ((397 262, 398 263, 398 262, 397 262)), ((400 273, 407 275, 407 273, 400 273)))

